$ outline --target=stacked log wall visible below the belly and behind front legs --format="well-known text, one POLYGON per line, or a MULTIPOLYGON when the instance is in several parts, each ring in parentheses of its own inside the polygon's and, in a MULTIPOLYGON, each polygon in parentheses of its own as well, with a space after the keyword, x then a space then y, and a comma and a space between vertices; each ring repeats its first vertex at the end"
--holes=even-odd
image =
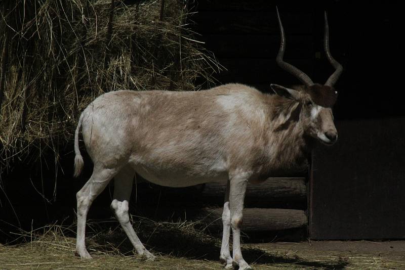
MULTIPOLYGON (((214 182, 189 188, 167 188, 138 180, 134 195, 136 211, 173 221, 198 220, 211 232, 219 233, 225 186, 226 183, 214 182)), ((306 178, 271 177, 261 184, 249 184, 245 207, 244 232, 306 228, 306 178)))

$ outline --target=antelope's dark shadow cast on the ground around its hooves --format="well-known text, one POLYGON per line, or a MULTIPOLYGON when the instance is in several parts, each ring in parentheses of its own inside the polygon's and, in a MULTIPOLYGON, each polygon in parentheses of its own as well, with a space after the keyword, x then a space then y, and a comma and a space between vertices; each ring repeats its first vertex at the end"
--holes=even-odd
MULTIPOLYGON (((173 225, 176 223, 161 223, 157 226, 142 226, 135 228, 142 243, 152 252, 189 259, 206 259, 219 261, 221 242, 219 238, 205 234, 193 228, 173 225), (138 229, 138 230, 137 230, 138 229)), ((118 250, 123 255, 133 255, 133 246, 123 231, 112 234, 99 234, 95 241, 110 251, 118 250), (108 245, 105 245, 108 243, 108 245)), ((247 262, 254 264, 294 264, 320 269, 344 269, 347 261, 319 262, 300 257, 272 255, 258 248, 242 248, 242 254, 247 262)))

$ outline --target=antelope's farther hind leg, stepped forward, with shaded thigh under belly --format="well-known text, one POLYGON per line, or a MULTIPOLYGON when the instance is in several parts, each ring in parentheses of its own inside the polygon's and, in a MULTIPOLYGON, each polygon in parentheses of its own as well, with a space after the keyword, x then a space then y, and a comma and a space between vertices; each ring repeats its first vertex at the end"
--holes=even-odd
POLYGON ((134 169, 127 166, 114 176, 114 196, 111 209, 114 211, 116 218, 121 224, 121 227, 123 227, 124 232, 127 234, 136 252, 148 259, 154 259, 155 256, 144 247, 136 235, 128 215, 128 203, 131 197, 134 175, 134 169))

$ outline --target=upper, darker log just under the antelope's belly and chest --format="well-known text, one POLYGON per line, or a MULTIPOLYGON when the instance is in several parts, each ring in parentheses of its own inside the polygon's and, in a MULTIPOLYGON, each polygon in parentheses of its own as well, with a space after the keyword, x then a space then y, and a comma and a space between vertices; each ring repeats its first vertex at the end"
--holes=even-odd
MULTIPOLYGON (((133 200, 140 206, 222 206, 225 196, 223 183, 206 183, 188 188, 168 188, 150 183, 139 183, 134 188, 133 200)), ((260 184, 248 184, 247 207, 306 209, 304 177, 270 177, 260 184)))

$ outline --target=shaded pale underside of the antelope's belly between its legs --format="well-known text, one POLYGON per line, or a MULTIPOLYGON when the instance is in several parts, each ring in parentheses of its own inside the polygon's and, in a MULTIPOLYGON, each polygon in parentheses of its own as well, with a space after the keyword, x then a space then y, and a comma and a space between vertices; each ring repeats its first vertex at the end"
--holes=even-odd
POLYGON ((135 166, 134 169, 139 175, 153 184, 173 188, 190 187, 208 182, 223 182, 228 179, 228 173, 225 171, 194 173, 193 171, 156 169, 141 165, 135 166))

